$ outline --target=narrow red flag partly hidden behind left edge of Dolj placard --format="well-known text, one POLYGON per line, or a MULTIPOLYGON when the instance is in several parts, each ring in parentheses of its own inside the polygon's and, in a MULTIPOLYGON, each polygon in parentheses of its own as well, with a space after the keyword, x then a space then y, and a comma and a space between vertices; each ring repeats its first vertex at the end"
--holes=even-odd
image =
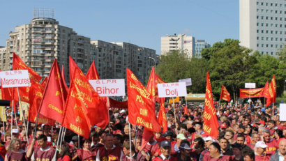
POLYGON ((153 67, 150 73, 149 81, 147 84, 147 91, 151 93, 151 97, 155 98, 157 102, 160 102, 160 98, 158 96, 158 86, 157 84, 163 84, 164 82, 155 72, 155 68, 153 67))

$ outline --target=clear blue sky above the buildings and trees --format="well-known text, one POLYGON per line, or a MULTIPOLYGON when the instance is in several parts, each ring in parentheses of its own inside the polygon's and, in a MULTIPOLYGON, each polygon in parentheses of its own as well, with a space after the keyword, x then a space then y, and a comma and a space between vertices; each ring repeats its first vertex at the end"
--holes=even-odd
POLYGON ((186 33, 211 45, 239 39, 238 0, 29 0, 1 2, 0 46, 15 26, 29 24, 33 8, 54 8, 59 24, 91 40, 130 41, 157 54, 166 34, 186 33))

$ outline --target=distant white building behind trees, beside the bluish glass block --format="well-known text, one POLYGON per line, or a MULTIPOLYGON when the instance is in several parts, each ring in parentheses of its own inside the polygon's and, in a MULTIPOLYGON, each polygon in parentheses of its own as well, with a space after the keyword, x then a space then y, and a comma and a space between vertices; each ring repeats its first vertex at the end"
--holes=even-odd
POLYGON ((163 36, 161 37, 161 54, 172 52, 176 49, 185 51, 188 56, 195 55, 195 38, 187 36, 186 34, 179 34, 176 36, 163 36))

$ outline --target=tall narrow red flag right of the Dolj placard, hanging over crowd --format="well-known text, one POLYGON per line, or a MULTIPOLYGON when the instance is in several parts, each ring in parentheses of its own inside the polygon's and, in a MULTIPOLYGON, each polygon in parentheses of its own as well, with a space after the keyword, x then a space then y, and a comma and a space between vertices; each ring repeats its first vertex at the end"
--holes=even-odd
POLYGON ((206 73, 206 100, 204 102, 204 132, 216 139, 218 137, 218 118, 213 106, 213 94, 211 91, 211 79, 209 72, 206 73))

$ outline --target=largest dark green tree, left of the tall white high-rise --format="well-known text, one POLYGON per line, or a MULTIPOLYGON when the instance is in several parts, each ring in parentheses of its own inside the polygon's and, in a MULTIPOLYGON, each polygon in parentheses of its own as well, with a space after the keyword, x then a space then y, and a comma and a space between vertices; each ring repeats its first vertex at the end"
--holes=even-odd
POLYGON ((224 85, 237 100, 239 89, 243 88, 250 71, 255 70, 257 60, 250 56, 251 49, 239 45, 239 40, 226 39, 222 44, 223 48, 210 56, 211 87, 213 94, 219 97, 224 85))

